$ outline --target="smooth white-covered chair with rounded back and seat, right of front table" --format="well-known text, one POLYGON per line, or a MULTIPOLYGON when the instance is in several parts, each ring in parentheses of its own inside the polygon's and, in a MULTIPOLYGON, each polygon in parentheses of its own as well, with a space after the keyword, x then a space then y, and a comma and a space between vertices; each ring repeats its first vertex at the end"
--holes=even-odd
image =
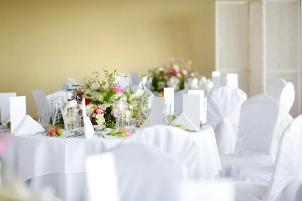
POLYGON ((272 165, 277 152, 280 107, 268 95, 247 99, 240 112, 235 153, 222 155, 221 176, 231 176, 233 166, 272 165))

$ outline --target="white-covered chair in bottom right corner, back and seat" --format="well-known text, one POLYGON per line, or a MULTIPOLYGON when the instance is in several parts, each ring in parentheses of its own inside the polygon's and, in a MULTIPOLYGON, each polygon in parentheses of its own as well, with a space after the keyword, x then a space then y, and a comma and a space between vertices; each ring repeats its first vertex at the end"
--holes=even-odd
POLYGON ((256 177, 263 176, 262 183, 259 183, 259 180, 258 183, 238 183, 237 200, 298 201, 302 199, 298 191, 302 185, 301 125, 302 116, 299 116, 282 134, 274 168, 262 167, 253 172, 256 177), (265 183, 266 177, 270 175, 269 183, 265 183))

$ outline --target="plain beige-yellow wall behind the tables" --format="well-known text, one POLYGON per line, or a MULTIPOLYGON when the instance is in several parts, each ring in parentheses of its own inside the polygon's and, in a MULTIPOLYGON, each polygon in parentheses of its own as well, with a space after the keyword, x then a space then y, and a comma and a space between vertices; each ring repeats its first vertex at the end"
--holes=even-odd
POLYGON ((192 59, 206 76, 214 69, 213 0, 0 0, 0 92, 60 90, 105 65, 118 72, 147 69, 171 57, 192 59))

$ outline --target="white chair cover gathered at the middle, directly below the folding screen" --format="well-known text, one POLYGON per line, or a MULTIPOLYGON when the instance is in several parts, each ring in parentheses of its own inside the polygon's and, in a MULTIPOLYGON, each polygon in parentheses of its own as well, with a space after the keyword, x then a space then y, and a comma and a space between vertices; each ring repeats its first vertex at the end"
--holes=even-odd
POLYGON ((239 88, 224 86, 207 98, 207 123, 214 129, 219 154, 234 153, 241 105, 247 94, 239 88))

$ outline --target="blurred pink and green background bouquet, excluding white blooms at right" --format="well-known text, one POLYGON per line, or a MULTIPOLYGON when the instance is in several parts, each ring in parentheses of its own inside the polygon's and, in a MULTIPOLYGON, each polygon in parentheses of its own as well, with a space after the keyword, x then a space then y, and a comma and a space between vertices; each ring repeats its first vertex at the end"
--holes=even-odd
POLYGON ((171 59, 169 65, 149 70, 150 90, 158 96, 163 96, 165 87, 174 87, 175 91, 182 90, 190 77, 198 76, 198 72, 191 69, 191 61, 184 67, 180 67, 178 63, 171 59))

